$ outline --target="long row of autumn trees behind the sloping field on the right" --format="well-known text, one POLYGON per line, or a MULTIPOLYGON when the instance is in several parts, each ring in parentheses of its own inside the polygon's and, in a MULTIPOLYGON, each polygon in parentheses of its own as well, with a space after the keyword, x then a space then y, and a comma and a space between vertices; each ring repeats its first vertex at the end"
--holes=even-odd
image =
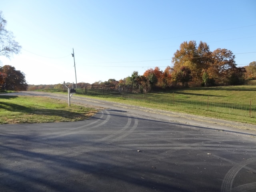
POLYGON ((243 84, 256 78, 256 62, 237 67, 234 54, 227 49, 210 51, 205 42, 183 42, 172 57, 173 67, 134 71, 131 76, 116 81, 96 82, 103 85, 131 86, 134 89, 159 90, 198 86, 227 86, 243 84))

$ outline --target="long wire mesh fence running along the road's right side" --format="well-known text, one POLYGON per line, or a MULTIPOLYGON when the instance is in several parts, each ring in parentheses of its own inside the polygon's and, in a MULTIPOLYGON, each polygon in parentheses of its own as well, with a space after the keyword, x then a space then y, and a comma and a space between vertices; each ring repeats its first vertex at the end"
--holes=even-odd
POLYGON ((145 92, 144 90, 133 90, 131 87, 87 85, 84 89, 77 89, 78 94, 98 96, 103 98, 122 98, 155 104, 164 104, 170 107, 190 108, 233 114, 244 117, 256 117, 256 105, 252 100, 238 100, 234 102, 220 102, 218 96, 200 95, 190 97, 182 92, 145 92))

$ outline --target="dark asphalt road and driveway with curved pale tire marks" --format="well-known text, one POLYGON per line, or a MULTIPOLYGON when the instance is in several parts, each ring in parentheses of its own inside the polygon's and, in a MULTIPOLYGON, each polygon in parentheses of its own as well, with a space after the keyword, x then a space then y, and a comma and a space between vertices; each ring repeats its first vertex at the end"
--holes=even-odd
POLYGON ((0 125, 0 191, 256 191, 256 126, 74 102, 101 110, 80 122, 0 125))

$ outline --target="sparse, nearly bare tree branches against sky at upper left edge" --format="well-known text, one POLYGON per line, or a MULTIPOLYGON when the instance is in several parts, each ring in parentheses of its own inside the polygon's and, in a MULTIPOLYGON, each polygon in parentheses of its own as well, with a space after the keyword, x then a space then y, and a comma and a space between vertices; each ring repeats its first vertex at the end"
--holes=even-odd
POLYGON ((18 54, 21 46, 14 40, 14 35, 11 31, 6 30, 7 21, 2 16, 0 11, 0 56, 10 58, 12 54, 18 54))

